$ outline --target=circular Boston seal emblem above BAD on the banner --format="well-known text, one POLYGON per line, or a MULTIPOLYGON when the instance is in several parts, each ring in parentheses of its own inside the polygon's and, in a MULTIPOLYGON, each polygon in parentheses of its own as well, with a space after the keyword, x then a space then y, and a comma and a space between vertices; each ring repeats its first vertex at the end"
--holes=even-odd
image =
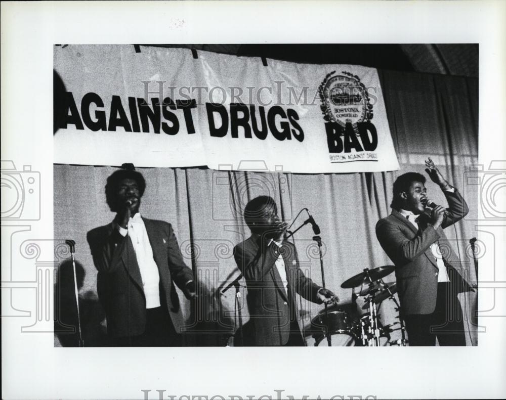
POLYGON ((357 122, 372 119, 372 104, 365 85, 357 75, 335 71, 325 76, 319 88, 321 111, 327 122, 337 122, 345 127, 350 122, 356 128, 357 122))

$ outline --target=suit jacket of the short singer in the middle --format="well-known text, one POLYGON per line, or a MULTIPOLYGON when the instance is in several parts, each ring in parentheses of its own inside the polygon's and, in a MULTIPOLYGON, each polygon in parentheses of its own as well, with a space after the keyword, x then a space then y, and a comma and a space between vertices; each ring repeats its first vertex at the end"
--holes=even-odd
POLYGON ((257 346, 286 344, 291 321, 299 324, 296 293, 321 303, 318 299, 321 287, 301 271, 297 250, 287 241, 279 248, 274 243, 266 246, 256 236, 251 236, 234 247, 234 257, 248 289, 247 303, 254 336, 251 342, 257 346), (287 292, 275 266, 279 254, 285 264, 287 292))

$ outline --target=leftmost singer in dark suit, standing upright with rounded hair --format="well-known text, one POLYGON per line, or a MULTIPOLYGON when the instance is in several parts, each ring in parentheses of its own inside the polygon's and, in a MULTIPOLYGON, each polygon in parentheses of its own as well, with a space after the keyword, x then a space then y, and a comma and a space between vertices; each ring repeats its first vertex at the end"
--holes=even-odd
POLYGON ((193 273, 183 261, 171 224, 141 217, 146 183, 130 168, 107 179, 106 199, 116 212, 114 220, 87 235, 107 333, 119 346, 181 345, 176 328, 182 315, 174 284, 193 298, 193 273))

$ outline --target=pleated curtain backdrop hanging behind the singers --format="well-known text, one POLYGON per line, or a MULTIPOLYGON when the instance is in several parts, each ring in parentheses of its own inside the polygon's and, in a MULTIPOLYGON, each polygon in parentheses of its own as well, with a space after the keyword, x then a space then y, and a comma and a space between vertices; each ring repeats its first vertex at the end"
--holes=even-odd
MULTIPOLYGON (((478 80, 433 74, 379 71, 390 129, 401 169, 381 173, 291 174, 269 172, 214 171, 196 168, 138 168, 147 183, 141 214, 172 224, 186 263, 201 285, 195 307, 180 293, 186 325, 182 328, 188 345, 225 345, 238 324, 234 289, 219 292, 239 275, 232 249, 249 237, 242 219, 248 200, 259 195, 272 196, 279 213, 288 223, 303 208, 311 210, 321 228, 326 286, 341 299, 341 307, 352 317, 365 313, 363 299, 351 302, 351 289, 340 285, 364 268, 392 264, 375 236, 378 219, 387 216, 392 200, 392 184, 407 171, 424 172, 425 159, 431 156, 448 181, 465 195, 471 213, 476 213, 477 192, 464 188, 465 173, 478 160, 478 80)), ((125 160, 129 161, 129 160, 125 160)), ((80 295, 83 304, 96 308, 97 272, 93 265, 86 234, 106 225, 114 214, 105 201, 104 186, 116 168, 54 166, 55 239, 76 241, 76 259, 85 279, 80 295)), ((427 183, 429 197, 446 204, 439 188, 427 183)), ((302 214, 299 222, 306 218, 302 214)), ((297 226, 297 222, 294 226, 297 226)), ((467 249, 469 239, 477 236, 472 221, 464 219, 446 234, 475 282, 474 264, 467 249)), ((295 237, 301 268, 318 284, 322 283, 318 247, 310 226, 295 237)), ((63 260, 59 260, 63 261, 63 260)), ((395 275, 385 278, 395 282, 395 275)), ((241 281, 242 284, 244 281, 241 281)), ((245 289, 242 291, 243 322, 249 318, 245 289)), ((459 297, 469 320, 465 326, 468 345, 477 344, 473 316, 476 293, 459 297)), ((305 326, 322 309, 321 305, 300 299, 305 326)), ((82 314, 82 313, 81 313, 82 314)), ((385 300, 379 306, 384 325, 397 322, 394 304, 385 300)), ((64 322, 64 321, 62 321, 64 322)), ((104 345, 104 322, 97 318, 82 321, 87 345, 104 345)), ((394 326, 395 328, 395 326, 394 326)), ((391 339, 400 337, 393 332, 391 339)), ((62 340, 55 340, 60 345, 62 340)), ((308 344, 313 344, 311 338, 308 344)))

